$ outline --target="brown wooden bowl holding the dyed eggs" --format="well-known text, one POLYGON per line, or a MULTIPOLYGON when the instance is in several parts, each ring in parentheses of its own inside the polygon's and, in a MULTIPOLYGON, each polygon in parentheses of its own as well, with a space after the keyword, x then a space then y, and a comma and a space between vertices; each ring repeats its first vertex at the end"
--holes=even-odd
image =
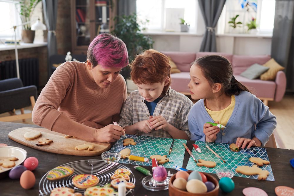
MULTIPOLYGON (((187 172, 190 174, 192 171, 187 171, 187 172)), ((176 187, 173 186, 173 181, 176 179, 176 174, 174 174, 169 181, 169 188, 168 188, 169 196, 203 196, 203 195, 205 195, 205 196, 218 196, 218 190, 219 190, 220 186, 219 186, 216 178, 210 174, 207 174, 207 173, 203 173, 203 174, 206 175, 207 181, 210 181, 214 185, 216 185, 216 187, 212 191, 204 192, 204 193, 190 193, 187 191, 177 189, 176 187)))

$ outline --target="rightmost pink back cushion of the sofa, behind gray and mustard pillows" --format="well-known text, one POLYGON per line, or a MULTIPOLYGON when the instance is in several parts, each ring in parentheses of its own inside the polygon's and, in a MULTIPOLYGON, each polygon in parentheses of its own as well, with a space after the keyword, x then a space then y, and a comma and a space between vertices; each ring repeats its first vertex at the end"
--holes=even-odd
POLYGON ((232 68, 234 75, 240 75, 243 71, 245 71, 248 67, 253 65, 254 63, 258 63, 263 65, 268 60, 270 60, 270 56, 268 55, 233 55, 232 58, 232 68))

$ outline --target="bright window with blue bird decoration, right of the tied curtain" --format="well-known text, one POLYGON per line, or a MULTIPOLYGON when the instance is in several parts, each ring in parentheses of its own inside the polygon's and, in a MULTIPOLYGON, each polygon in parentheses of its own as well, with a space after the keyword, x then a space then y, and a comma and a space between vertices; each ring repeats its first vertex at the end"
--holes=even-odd
POLYGON ((218 21, 217 33, 247 33, 246 26, 256 19, 259 33, 273 33, 275 18, 275 0, 227 0, 218 21), (236 22, 242 22, 233 29, 228 23, 232 17, 239 15, 236 22))

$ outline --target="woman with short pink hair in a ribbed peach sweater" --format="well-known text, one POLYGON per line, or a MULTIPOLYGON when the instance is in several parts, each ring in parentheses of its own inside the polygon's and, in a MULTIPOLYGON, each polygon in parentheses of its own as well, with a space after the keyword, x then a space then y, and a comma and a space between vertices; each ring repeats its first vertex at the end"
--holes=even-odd
POLYGON ((36 125, 86 141, 113 142, 124 133, 118 122, 127 98, 119 74, 128 65, 126 45, 103 33, 90 43, 87 61, 61 64, 41 91, 33 109, 36 125))

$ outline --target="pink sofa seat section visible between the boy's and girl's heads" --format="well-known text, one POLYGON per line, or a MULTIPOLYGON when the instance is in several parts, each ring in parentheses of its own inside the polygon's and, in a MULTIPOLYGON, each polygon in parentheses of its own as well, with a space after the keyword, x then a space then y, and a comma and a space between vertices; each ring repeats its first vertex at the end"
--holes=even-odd
POLYGON ((190 93, 188 83, 190 82, 189 72, 172 73, 171 88, 181 93, 190 93))

